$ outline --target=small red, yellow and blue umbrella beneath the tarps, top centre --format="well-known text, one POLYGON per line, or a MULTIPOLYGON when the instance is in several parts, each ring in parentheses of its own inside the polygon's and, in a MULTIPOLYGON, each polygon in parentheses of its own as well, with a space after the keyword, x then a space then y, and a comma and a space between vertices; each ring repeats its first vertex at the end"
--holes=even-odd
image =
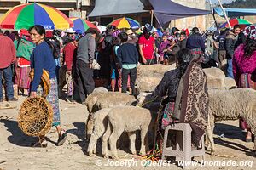
POLYGON ((140 24, 137 20, 133 20, 131 18, 120 18, 117 20, 113 20, 109 25, 116 26, 118 29, 120 28, 132 28, 137 29, 140 27, 140 24))

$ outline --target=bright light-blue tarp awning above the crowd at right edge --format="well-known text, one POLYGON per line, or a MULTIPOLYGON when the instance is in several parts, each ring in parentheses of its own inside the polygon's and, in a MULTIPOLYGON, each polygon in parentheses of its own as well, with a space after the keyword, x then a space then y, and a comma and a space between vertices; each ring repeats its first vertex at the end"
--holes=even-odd
MULTIPOLYGON (((256 15, 256 8, 224 8, 228 17, 256 15)), ((221 8, 214 8, 214 12, 219 16, 224 17, 224 13, 221 8)))

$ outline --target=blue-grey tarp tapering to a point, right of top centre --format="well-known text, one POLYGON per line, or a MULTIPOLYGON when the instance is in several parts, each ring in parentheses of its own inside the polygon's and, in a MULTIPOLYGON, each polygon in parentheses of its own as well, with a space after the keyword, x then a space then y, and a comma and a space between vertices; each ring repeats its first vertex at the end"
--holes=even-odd
POLYGON ((154 8, 154 14, 159 20, 161 26, 164 26, 171 20, 185 17, 211 14, 211 11, 198 8, 189 8, 171 0, 149 0, 154 8))

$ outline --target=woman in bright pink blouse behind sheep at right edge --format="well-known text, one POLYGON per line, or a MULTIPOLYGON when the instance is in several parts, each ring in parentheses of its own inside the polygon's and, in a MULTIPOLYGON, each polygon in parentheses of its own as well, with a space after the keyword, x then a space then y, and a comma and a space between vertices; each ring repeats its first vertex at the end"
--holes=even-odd
MULTIPOLYGON (((256 89, 256 35, 247 35, 247 41, 236 48, 233 57, 233 73, 238 88, 256 89)), ((252 132, 247 122, 240 120, 240 126, 247 129, 246 141, 252 141, 252 132)))

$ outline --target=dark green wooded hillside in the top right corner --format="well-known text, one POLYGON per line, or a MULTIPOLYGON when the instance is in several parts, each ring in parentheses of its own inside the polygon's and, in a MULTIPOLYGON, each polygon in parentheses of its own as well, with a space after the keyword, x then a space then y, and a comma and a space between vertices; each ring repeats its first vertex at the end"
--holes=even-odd
POLYGON ((230 4, 224 4, 224 8, 256 8, 256 0, 236 0, 230 4))

